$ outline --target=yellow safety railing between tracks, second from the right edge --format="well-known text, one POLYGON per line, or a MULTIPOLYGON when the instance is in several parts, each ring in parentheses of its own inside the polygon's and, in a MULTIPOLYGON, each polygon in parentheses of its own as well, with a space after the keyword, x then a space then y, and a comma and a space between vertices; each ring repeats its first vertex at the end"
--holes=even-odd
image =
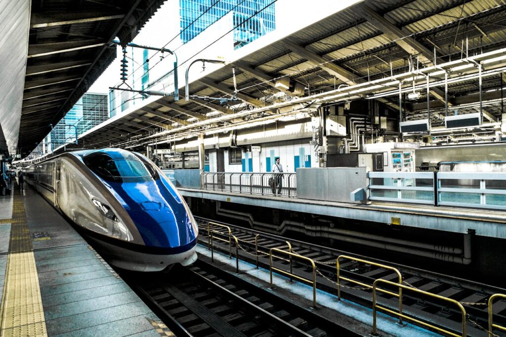
POLYGON ((430 327, 430 328, 432 328, 432 329, 434 329, 434 330, 436 330, 438 332, 443 332, 443 333, 446 333, 446 334, 448 334, 450 336, 455 336, 455 337, 462 336, 462 337, 465 337, 467 335, 466 334, 466 309, 464 309, 464 307, 458 301, 449 299, 447 297, 439 296, 439 295, 436 295, 434 293, 427 292, 427 291, 424 291, 424 290, 420 290, 420 289, 416 289, 416 288, 411 288, 411 287, 408 287, 407 285, 404 285, 404 284, 398 284, 398 283, 387 281, 387 280, 384 280, 384 279, 381 279, 381 278, 375 280, 374 283, 372 283, 372 334, 374 334, 374 335, 377 334, 377 331, 376 331, 376 310, 377 309, 383 310, 385 312, 388 312, 390 314, 393 314, 393 315, 396 315, 396 316, 399 316, 399 317, 403 317, 403 318, 405 318, 407 320, 410 320, 410 321, 415 322, 415 323, 420 324, 420 325, 424 325, 424 326, 430 327), (376 304, 376 290, 381 290, 381 289, 377 289, 377 284, 378 283, 385 283, 385 284, 388 284, 388 285, 391 285, 391 286, 394 286, 394 287, 399 287, 399 288, 402 288, 404 290, 413 291, 413 292, 416 292, 416 293, 419 293, 419 294, 423 294, 425 296, 432 297, 434 299, 439 299, 439 300, 442 300, 442 301, 446 301, 446 302, 450 302, 452 304, 455 304, 460 309, 460 312, 462 314, 462 334, 453 333, 452 331, 445 330, 443 328, 440 328, 439 326, 436 326, 436 325, 433 325, 433 324, 429 324, 429 323, 426 323, 424 321, 420 321, 420 320, 415 319, 413 317, 406 316, 406 315, 402 314, 401 312, 396 312, 396 311, 390 310, 389 308, 385 308, 385 307, 377 305, 376 304))

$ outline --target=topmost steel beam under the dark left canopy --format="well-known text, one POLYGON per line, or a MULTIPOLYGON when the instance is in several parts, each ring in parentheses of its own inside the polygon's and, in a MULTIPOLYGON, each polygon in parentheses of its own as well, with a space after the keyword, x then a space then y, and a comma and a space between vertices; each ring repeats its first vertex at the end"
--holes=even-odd
POLYGON ((55 27, 71 25, 75 23, 90 23, 124 18, 124 14, 116 13, 104 15, 104 11, 96 12, 41 12, 32 13, 30 17, 30 28, 55 27))

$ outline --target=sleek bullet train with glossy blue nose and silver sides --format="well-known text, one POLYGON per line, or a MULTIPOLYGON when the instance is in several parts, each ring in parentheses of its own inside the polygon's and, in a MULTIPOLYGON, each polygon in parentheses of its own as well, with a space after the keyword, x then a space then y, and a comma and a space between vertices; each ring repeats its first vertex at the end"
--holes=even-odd
POLYGON ((150 272, 197 259, 198 228, 188 205, 139 153, 68 152, 27 167, 25 181, 114 266, 150 272))

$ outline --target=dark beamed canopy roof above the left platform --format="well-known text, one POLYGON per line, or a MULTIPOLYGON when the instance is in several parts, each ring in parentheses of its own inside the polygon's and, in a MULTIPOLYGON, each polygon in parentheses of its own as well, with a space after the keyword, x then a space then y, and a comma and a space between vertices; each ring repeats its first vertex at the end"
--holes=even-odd
MULTIPOLYGON (((31 1, 27 52, 25 49, 25 59, 20 60, 21 64, 26 62, 24 88, 22 93, 13 93, 22 95, 18 151, 27 154, 43 140, 115 58, 116 48, 110 46, 111 41, 118 38, 122 44, 130 42, 162 3, 163 0, 31 1)), ((11 13, 15 17, 13 13, 18 15, 17 21, 25 15, 21 10, 11 13)), ((26 36, 26 27, 16 28, 25 29, 26 36)), ((10 113, 17 115, 17 111, 10 113)), ((11 130, 12 139, 17 136, 16 131, 11 130)))

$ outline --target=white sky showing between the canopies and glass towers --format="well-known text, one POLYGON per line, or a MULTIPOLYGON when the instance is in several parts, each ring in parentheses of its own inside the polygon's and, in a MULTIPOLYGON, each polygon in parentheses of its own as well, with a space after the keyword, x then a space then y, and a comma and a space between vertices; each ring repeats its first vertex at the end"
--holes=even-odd
MULTIPOLYGON (((360 2, 361 0, 277 0, 275 3, 276 36, 284 36, 293 33, 313 22, 317 22, 335 12, 360 2), (316 5, 316 6, 315 6, 316 5)), ((179 0, 167 0, 155 15, 146 23, 134 39, 134 43, 161 48, 171 39, 179 35, 179 0)), ((267 34, 267 35, 269 35, 267 34)), ((264 37, 267 37, 265 35, 264 37)), ((263 37, 261 37, 263 38, 263 37)), ((261 39, 260 38, 260 39, 261 39)), ((259 39, 259 40, 260 40, 259 39)), ((171 49, 179 47, 180 41, 176 38, 167 47, 171 49)), ((88 92, 109 92, 109 87, 119 83, 119 57, 120 49, 117 48, 118 57, 95 81, 88 92)), ((182 60, 180 60, 181 63, 182 60)), ((137 68, 138 66, 135 66, 137 68)), ((183 84, 183 83, 182 83, 183 84)))

